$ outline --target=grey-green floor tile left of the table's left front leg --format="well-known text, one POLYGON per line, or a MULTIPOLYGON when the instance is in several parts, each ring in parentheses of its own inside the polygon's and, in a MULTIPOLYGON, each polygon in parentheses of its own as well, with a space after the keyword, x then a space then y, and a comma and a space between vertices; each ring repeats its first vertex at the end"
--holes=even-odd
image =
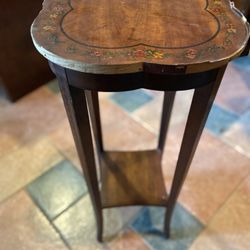
POLYGON ((31 183, 27 190, 48 218, 53 220, 83 196, 87 187, 78 170, 69 161, 62 161, 31 183))

